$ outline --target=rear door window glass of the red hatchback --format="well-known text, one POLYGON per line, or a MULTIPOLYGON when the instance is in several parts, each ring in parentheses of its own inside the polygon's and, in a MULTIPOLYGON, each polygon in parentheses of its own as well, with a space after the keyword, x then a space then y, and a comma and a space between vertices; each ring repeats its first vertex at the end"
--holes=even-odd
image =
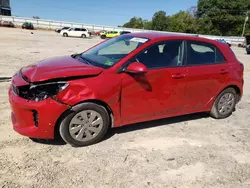
POLYGON ((206 65, 225 62, 216 46, 198 41, 187 41, 187 65, 206 65))

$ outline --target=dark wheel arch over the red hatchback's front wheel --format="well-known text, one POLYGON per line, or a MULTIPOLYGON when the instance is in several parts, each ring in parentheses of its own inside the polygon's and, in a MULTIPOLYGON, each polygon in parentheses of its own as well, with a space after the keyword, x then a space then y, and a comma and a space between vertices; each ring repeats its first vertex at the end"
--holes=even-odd
MULTIPOLYGON (((95 103, 97 105, 100 105, 102 107, 104 107, 108 114, 109 114, 109 117, 110 117, 110 127, 113 127, 114 126, 114 114, 113 114, 113 111, 112 109, 110 108, 110 106, 105 103, 104 101, 101 101, 101 100, 98 100, 98 99, 89 99, 89 100, 84 100, 84 101, 81 101, 77 104, 75 104, 74 106, 76 105, 79 105, 79 104, 82 104, 82 103, 95 103)), ((72 113, 72 109, 74 108, 74 106, 72 106, 71 108, 65 110, 61 115, 60 117, 57 119, 56 121, 56 124, 55 124, 55 127, 54 127, 54 138, 60 138, 60 133, 59 133, 59 126, 60 126, 60 123, 61 121, 67 116, 69 115, 70 113, 72 113)))

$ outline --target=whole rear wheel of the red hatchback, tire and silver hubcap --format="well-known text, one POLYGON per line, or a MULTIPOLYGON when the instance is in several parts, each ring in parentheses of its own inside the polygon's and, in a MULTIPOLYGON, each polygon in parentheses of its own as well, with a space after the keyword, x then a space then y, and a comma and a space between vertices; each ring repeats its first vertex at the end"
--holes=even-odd
POLYGON ((235 89, 227 88, 217 96, 210 115, 215 119, 227 118, 233 113, 236 102, 237 94, 235 89))

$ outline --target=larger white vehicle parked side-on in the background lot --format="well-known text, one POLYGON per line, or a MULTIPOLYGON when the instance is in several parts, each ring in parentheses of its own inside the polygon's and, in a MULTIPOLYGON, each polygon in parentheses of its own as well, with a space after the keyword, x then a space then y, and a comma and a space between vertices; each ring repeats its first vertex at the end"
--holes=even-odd
POLYGON ((89 37, 89 31, 85 28, 74 28, 71 27, 67 30, 62 30, 60 34, 64 37, 82 37, 86 38, 89 37))

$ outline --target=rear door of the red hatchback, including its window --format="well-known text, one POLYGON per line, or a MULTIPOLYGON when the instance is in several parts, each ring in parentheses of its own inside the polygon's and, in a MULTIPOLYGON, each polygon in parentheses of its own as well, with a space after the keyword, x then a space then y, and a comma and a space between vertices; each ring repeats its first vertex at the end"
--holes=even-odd
POLYGON ((228 63, 213 44, 187 41, 185 109, 199 111, 225 87, 228 63))

